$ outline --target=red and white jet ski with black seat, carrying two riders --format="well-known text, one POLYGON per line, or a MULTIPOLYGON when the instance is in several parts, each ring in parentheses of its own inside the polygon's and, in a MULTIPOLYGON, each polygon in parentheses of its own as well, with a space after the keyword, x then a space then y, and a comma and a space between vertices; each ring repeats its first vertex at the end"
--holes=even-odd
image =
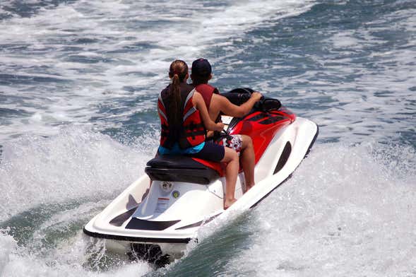
MULTIPOLYGON (((237 88, 222 95, 241 105, 252 92, 237 88)), ((245 117, 222 116, 222 122, 227 134, 251 137, 256 157, 256 184, 246 191, 241 171, 237 201, 230 208, 223 209, 225 177, 220 163, 164 155, 150 160, 146 174, 91 219, 83 232, 104 239, 107 251, 132 259, 155 264, 178 259, 202 225, 232 211, 253 208, 290 178, 319 133, 314 122, 297 117, 271 98, 257 102, 245 117)))

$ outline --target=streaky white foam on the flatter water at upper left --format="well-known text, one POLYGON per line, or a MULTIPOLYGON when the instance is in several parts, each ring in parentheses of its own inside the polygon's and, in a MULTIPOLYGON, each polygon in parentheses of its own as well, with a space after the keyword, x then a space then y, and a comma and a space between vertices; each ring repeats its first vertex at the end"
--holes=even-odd
MULTIPOLYGON (((4 52, 0 61, 7 66, 1 66, 2 71, 18 76, 53 77, 71 83, 67 85, 70 89, 57 88, 55 81, 42 83, 42 88, 24 82, 1 86, 0 90, 6 95, 31 96, 8 108, 37 114, 35 119, 39 114, 51 119, 58 117, 57 111, 64 114, 52 121, 33 121, 25 116, 23 120, 20 117, 10 119, 7 129, 1 132, 2 139, 14 134, 56 134, 54 124, 89 122, 102 102, 132 94, 155 95, 168 82, 166 72, 173 59, 191 62, 205 56, 212 45, 230 43, 230 37, 238 40, 244 32, 269 19, 307 11, 311 3, 232 1, 213 6, 195 1, 153 1, 152 6, 143 8, 147 2, 83 0, 42 9, 28 18, 5 20, 0 26, 2 42, 28 46, 28 50, 22 54, 13 50, 4 52), (205 15, 203 19, 201 14, 205 15), (153 23, 156 21, 158 23, 153 23), (88 44, 74 42, 83 38, 91 41, 88 44), (150 48, 123 50, 123 47, 139 44, 150 45, 150 48), (69 50, 68 47, 78 49, 69 50), (71 57, 74 59, 69 60, 71 57), (85 64, 77 62, 78 58, 98 62, 85 64), (102 59, 111 61, 100 62, 102 59), (33 66, 43 66, 47 72, 43 72, 44 69, 33 72, 33 66), (152 75, 148 76, 149 73, 152 75), (131 93, 126 92, 124 86, 143 88, 131 93)), ((214 64, 216 59, 211 59, 214 64)), ((145 103, 144 107, 154 109, 155 103, 145 103)), ((94 124, 108 128, 114 122, 94 124)))

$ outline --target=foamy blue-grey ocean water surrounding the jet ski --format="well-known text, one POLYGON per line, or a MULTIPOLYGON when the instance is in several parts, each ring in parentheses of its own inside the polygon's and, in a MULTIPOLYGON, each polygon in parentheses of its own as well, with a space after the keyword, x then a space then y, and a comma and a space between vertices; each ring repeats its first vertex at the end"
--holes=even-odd
POLYGON ((0 2, 0 276, 416 276, 416 2, 0 2), (82 228, 143 174, 174 59, 319 124, 293 177, 162 269, 82 228))

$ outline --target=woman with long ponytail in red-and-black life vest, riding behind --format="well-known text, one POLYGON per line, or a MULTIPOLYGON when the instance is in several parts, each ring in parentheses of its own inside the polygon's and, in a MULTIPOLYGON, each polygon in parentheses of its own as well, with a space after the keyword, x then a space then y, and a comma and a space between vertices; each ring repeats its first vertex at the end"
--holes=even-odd
POLYGON ((170 64, 169 78, 172 83, 159 95, 158 114, 162 125, 160 155, 189 155, 194 158, 226 163, 224 209, 234 198, 235 183, 239 169, 237 152, 206 141, 206 131, 221 131, 224 124, 213 122, 201 94, 186 83, 188 66, 176 60, 170 64))

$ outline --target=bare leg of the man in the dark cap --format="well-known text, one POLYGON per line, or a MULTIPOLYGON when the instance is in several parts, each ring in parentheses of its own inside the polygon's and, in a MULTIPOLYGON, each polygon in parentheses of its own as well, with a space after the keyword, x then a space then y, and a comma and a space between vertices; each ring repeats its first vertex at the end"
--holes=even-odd
POLYGON ((246 191, 254 186, 254 165, 255 163, 254 147, 251 138, 242 135, 242 167, 244 171, 244 179, 246 180, 246 191))

